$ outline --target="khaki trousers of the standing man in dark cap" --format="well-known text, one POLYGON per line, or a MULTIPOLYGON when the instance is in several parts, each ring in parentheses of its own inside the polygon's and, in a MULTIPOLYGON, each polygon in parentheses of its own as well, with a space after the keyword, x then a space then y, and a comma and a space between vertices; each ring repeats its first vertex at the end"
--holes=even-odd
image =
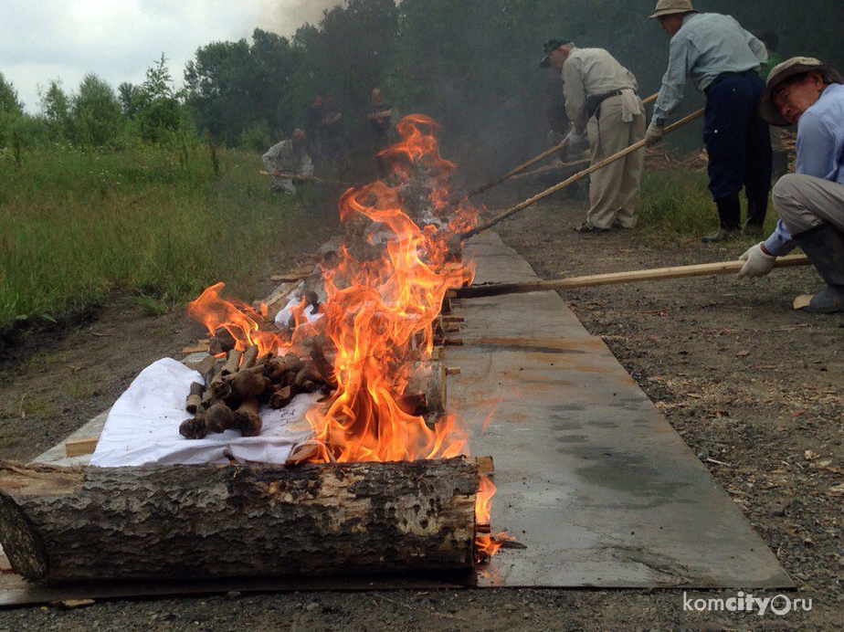
MULTIPOLYGON (((645 138, 644 111, 634 116, 633 121, 621 121, 621 97, 605 100, 598 114, 600 118, 593 116, 586 125, 592 164, 645 138)), ((642 149, 590 176, 587 223, 598 228, 611 228, 613 224, 624 228, 636 225, 644 163, 645 150, 642 149)))

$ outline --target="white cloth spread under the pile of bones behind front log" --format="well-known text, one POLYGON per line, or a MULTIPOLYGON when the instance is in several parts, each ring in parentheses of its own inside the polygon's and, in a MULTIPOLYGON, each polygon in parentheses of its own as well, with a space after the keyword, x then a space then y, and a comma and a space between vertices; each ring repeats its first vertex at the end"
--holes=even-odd
POLYGON ((185 399, 202 376, 172 358, 158 360, 139 374, 111 407, 90 464, 101 468, 239 462, 285 463, 313 433, 305 413, 320 396, 297 395, 281 410, 261 407, 258 437, 237 430, 185 439, 179 426, 190 415, 185 399))

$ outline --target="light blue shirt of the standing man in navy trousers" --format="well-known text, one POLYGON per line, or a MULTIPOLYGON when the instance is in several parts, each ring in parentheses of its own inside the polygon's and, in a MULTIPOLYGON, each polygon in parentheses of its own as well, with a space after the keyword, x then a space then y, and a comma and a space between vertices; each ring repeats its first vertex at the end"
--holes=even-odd
POLYGON ((659 125, 677 110, 691 77, 706 90, 723 72, 744 72, 759 68, 768 59, 765 44, 748 33, 733 16, 720 13, 691 13, 671 37, 669 67, 653 110, 659 125))

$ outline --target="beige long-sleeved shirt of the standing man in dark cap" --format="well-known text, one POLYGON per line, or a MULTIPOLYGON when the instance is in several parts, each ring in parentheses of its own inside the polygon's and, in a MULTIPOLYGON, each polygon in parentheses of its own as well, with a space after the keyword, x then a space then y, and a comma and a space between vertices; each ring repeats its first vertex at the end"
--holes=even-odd
POLYGON ((634 115, 644 112, 636 95, 636 77, 603 48, 572 49, 563 65, 563 90, 565 111, 577 132, 586 129, 586 99, 589 97, 624 90, 622 120, 632 121, 634 115))

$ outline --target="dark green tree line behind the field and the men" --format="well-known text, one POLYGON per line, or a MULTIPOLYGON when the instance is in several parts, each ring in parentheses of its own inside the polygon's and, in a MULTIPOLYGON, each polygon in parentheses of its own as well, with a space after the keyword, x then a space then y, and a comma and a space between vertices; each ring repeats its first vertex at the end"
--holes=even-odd
MULTIPOLYGON (((346 0, 293 37, 256 28, 248 39, 200 47, 174 82, 162 58, 138 86, 112 90, 89 75, 68 94, 57 81, 26 116, 14 88, 0 80, 0 146, 14 138, 107 145, 121 138, 164 142, 190 131, 259 149, 300 126, 311 97, 331 96, 343 111, 343 138, 366 134, 369 93, 384 90, 397 110, 444 124, 454 151, 482 156, 487 168, 512 163, 543 142, 542 42, 569 37, 606 47, 658 90, 668 38, 648 19, 653 0, 346 0)), ((778 0, 701 0, 748 30, 774 30, 784 57, 812 55, 839 66, 839 0, 793 5, 778 0)), ((696 105, 694 97, 690 107, 696 105)))

